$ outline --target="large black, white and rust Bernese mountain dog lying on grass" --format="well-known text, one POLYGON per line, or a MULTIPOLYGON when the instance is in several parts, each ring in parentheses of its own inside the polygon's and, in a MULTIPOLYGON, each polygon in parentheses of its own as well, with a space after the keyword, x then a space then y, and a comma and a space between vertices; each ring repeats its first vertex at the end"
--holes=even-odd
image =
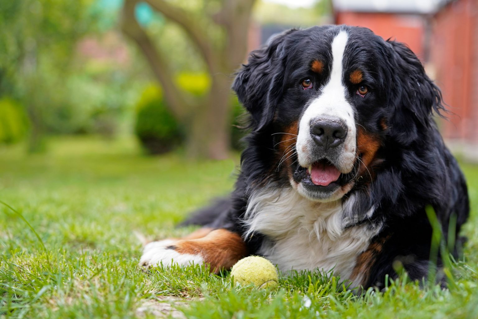
POLYGON ((428 207, 459 253, 467 186, 433 119, 441 92, 407 46, 366 28, 293 29, 253 51, 232 88, 250 114, 234 191, 185 222, 200 230, 148 243, 142 266, 217 273, 261 255, 351 287, 383 287, 397 265, 423 280, 442 263, 428 207))

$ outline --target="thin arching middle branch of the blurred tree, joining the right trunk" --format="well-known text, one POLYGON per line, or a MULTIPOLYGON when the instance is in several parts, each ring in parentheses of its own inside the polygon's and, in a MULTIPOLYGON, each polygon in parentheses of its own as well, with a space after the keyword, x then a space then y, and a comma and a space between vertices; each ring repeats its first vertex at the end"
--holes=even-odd
POLYGON ((155 10, 161 12, 166 18, 179 24, 194 44, 196 44, 210 72, 217 72, 215 67, 217 65, 215 48, 212 45, 211 39, 206 36, 204 27, 192 18, 192 13, 171 5, 164 0, 146 0, 146 2, 155 10))

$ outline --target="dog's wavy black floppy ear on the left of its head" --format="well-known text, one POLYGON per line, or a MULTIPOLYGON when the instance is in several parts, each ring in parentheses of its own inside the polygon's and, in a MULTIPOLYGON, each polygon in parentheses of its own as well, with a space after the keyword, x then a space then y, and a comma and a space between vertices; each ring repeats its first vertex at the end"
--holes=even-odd
POLYGON ((275 106, 282 96, 284 39, 295 30, 274 36, 268 44, 252 51, 248 64, 239 69, 232 89, 251 115, 251 128, 259 131, 272 122, 275 106))

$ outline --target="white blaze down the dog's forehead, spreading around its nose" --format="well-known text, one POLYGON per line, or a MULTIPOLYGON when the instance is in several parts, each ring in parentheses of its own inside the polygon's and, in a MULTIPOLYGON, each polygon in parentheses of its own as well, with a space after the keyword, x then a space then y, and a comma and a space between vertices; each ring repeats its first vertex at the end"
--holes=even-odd
POLYGON ((326 115, 342 119, 348 127, 347 138, 344 142, 344 152, 338 160, 339 163, 337 166, 343 170, 343 173, 348 173, 352 170, 355 159, 357 130, 355 127, 354 110, 346 99, 347 91, 342 83, 343 57, 347 40, 347 33, 341 31, 332 41, 332 71, 330 73, 330 79, 322 89, 322 94, 314 99, 307 107, 299 122, 297 154, 299 164, 303 167, 312 164, 309 154, 306 151, 308 149, 307 145, 314 143, 309 132, 310 120, 321 115, 326 115))

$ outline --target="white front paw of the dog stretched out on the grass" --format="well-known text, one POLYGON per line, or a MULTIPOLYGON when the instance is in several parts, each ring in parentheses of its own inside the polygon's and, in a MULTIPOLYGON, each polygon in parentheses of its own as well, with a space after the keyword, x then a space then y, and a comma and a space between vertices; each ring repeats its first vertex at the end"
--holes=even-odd
POLYGON ((170 267, 172 264, 188 266, 190 264, 203 264, 204 259, 200 254, 179 253, 175 244, 179 242, 166 239, 159 242, 150 242, 144 246, 140 265, 143 267, 156 267, 163 264, 170 267))

